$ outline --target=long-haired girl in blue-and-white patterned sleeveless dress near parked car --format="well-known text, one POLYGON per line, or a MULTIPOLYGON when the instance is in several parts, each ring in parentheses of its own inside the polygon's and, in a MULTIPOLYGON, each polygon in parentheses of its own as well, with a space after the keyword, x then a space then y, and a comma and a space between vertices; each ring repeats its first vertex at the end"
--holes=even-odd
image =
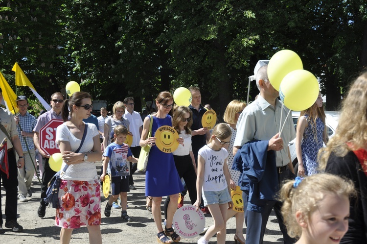
POLYGON ((321 93, 314 105, 301 111, 297 122, 296 153, 298 173, 308 176, 317 173, 319 149, 328 141, 325 126, 325 112, 322 106, 321 93))

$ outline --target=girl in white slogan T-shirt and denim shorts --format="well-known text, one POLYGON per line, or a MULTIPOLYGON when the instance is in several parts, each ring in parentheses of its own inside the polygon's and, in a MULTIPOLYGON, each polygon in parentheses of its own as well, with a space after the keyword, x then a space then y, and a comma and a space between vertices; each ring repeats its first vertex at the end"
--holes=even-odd
POLYGON ((214 127, 209 143, 198 152, 197 199, 194 206, 199 209, 203 195, 204 206, 209 208, 214 219, 214 224, 198 240, 198 244, 207 244, 216 233, 217 243, 226 243, 227 210, 232 208, 233 203, 229 194, 228 151, 224 147, 229 145, 230 136, 229 126, 219 123, 214 127))

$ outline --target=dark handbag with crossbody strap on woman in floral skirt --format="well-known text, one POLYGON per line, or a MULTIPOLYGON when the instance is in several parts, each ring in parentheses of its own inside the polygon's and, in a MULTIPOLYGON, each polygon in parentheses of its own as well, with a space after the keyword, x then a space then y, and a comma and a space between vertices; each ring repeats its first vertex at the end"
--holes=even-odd
MULTIPOLYGON (((84 143, 84 139, 87 134, 87 127, 88 127, 88 123, 85 123, 82 141, 80 142, 79 148, 76 149, 75 151, 76 153, 79 152, 80 148, 82 147, 84 143)), ((46 203, 51 204, 52 208, 60 208, 59 190, 60 190, 61 177, 64 175, 68 167, 69 165, 67 164, 62 171, 58 171, 57 173, 55 173, 55 175, 52 176, 51 180, 47 184, 48 188, 47 188, 46 197, 44 198, 44 200, 46 203)))

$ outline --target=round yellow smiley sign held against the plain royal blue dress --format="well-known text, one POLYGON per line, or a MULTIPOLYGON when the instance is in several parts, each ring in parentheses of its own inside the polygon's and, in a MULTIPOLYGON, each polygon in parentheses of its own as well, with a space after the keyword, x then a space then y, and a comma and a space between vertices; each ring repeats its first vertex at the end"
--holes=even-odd
POLYGON ((156 138, 156 146, 162 152, 173 152, 179 146, 179 142, 177 141, 179 134, 171 126, 163 125, 159 127, 154 137, 156 138))

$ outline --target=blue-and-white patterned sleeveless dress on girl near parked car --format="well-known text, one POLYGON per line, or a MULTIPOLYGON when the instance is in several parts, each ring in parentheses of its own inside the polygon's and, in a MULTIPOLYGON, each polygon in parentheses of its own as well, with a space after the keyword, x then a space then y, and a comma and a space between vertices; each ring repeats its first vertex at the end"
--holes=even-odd
POLYGON ((311 175, 317 173, 319 163, 317 162, 317 154, 323 146, 322 133, 325 128, 321 118, 316 119, 316 140, 314 135, 314 124, 309 122, 308 115, 304 115, 308 122, 308 126, 304 129, 303 139, 301 142, 302 161, 304 166, 304 174, 311 175))

